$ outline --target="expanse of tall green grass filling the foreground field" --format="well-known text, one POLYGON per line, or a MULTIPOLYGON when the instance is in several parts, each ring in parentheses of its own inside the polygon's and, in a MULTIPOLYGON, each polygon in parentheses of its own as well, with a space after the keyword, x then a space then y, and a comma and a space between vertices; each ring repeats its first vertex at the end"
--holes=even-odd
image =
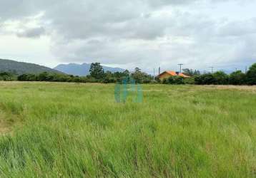
POLYGON ((0 83, 0 177, 256 177, 256 88, 0 83))

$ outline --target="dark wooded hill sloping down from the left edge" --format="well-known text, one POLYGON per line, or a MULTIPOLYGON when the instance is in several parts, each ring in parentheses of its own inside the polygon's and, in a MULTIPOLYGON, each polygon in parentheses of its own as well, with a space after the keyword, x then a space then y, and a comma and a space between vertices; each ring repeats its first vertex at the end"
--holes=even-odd
POLYGON ((39 66, 34 63, 23 63, 7 59, 0 59, 0 72, 15 72, 19 75, 24 73, 61 73, 58 70, 47 68, 45 66, 39 66))

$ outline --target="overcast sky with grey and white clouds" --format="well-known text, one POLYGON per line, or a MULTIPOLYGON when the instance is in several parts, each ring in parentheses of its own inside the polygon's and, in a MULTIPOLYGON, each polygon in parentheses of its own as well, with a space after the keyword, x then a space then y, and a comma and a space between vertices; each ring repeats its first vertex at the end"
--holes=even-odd
POLYGON ((100 62, 158 70, 245 70, 256 0, 1 0, 0 58, 54 68, 100 62))

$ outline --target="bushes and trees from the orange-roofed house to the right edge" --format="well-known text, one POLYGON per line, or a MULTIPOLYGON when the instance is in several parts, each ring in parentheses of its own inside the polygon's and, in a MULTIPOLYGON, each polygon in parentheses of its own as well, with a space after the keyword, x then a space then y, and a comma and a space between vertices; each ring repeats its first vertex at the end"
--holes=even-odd
POLYGON ((215 73, 200 74, 199 71, 184 69, 185 75, 189 78, 170 77, 162 80, 164 84, 195 84, 195 85, 256 85, 256 63, 253 64, 247 73, 237 70, 228 75, 223 71, 215 73))

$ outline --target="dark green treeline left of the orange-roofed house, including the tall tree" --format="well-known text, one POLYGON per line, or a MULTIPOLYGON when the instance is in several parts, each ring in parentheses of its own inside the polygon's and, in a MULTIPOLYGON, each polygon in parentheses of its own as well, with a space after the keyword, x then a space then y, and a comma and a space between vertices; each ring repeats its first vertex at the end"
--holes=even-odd
POLYGON ((151 83, 153 77, 147 73, 143 73, 139 68, 135 68, 134 72, 130 73, 129 70, 124 72, 105 72, 100 63, 92 63, 90 74, 84 77, 67 75, 63 73, 39 73, 31 74, 25 73, 18 75, 15 72, 0 73, 0 80, 11 81, 46 81, 46 82, 69 82, 69 83, 121 83, 124 78, 135 80, 136 83, 151 83))

